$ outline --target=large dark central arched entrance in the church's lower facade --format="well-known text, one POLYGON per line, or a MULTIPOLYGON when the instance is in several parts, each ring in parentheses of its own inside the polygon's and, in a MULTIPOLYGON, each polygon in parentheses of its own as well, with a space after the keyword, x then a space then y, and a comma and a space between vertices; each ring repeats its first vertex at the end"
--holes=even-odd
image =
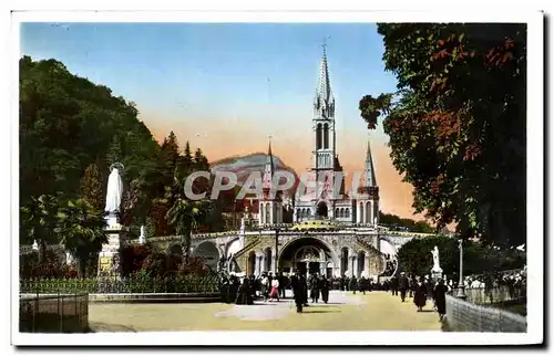
POLYGON ((334 253, 321 240, 299 238, 284 247, 278 265, 285 273, 297 270, 300 274, 319 273, 332 278, 335 261, 334 253))

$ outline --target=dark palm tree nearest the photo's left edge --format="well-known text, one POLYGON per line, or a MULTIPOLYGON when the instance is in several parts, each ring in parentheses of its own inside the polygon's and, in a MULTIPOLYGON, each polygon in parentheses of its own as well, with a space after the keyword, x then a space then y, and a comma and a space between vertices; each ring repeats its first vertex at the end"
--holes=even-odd
POLYGON ((47 255, 47 245, 58 243, 55 228, 58 226, 58 198, 50 195, 42 195, 39 198, 31 198, 29 206, 21 208, 22 232, 29 243, 39 243, 39 263, 42 263, 47 255))

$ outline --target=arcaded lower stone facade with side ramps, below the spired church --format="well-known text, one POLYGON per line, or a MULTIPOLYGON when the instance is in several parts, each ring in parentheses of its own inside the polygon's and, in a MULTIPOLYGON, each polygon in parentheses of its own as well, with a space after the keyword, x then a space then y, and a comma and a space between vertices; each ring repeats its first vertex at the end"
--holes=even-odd
MULTIPOLYGON (((381 245, 387 242, 398 249, 413 238, 433 234, 406 233, 397 231, 379 232, 371 228, 343 227, 334 231, 295 230, 298 226, 288 224, 264 230, 246 231, 243 238, 239 231, 195 234, 192 237, 191 253, 199 255, 213 269, 220 268, 218 261, 233 260, 234 271, 258 275, 261 272, 291 272, 304 269, 299 263, 307 263, 305 270, 327 275, 356 275, 377 279, 384 270, 381 245), (277 238, 276 238, 277 237, 277 238), (277 240, 277 241, 276 241, 277 240), (235 247, 235 252, 230 253, 235 247), (298 253, 309 250, 319 255, 310 259, 298 253), (310 266, 311 263, 311 266, 310 266), (315 266, 318 264, 318 266, 315 266)), ((151 238, 148 242, 161 251, 181 243, 181 237, 151 238)))

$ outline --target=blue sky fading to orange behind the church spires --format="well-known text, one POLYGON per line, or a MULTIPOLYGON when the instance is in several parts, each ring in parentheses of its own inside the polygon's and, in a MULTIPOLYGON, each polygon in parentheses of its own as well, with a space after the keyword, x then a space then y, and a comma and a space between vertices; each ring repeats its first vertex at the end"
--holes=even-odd
POLYGON ((347 175, 363 169, 368 138, 381 210, 406 218, 409 184, 392 166, 382 125, 359 114, 366 94, 396 91, 371 23, 23 23, 21 55, 55 59, 136 104, 163 140, 201 147, 211 161, 266 151, 298 174, 311 164, 312 101, 322 44, 336 97, 337 153, 347 175))

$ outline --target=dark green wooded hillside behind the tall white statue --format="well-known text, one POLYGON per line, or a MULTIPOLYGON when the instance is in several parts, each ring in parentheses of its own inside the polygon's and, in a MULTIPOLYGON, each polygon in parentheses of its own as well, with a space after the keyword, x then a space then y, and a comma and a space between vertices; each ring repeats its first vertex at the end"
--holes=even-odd
MULTIPOLYGON (((193 156, 187 143, 181 155, 173 132, 160 146, 137 119, 134 103, 71 74, 55 60, 37 62, 23 56, 19 64, 21 243, 37 240, 43 251, 47 244, 60 241, 69 247, 73 240, 90 240, 74 238, 84 233, 79 230, 84 227, 68 223, 101 217, 102 188, 115 161, 124 165, 122 222, 135 228, 147 224, 148 237, 174 233, 176 221, 168 224, 166 216, 175 201, 164 200, 166 191, 176 184, 176 174, 185 177, 194 169, 209 168, 202 150, 196 149, 193 156), (79 199, 91 205, 94 213, 65 214, 63 231, 72 239, 55 233, 59 207, 68 209, 70 201, 79 199)), ((84 251, 80 243, 71 247, 75 253, 84 251)), ((86 249, 98 250, 92 245, 86 249)), ((88 260, 94 259, 94 254, 85 254, 88 260)))

